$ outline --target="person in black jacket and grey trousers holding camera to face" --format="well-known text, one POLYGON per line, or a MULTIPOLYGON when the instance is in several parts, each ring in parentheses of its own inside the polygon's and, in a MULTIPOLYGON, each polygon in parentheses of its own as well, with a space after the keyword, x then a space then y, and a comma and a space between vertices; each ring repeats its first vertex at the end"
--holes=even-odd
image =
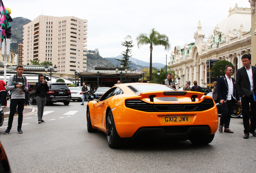
POLYGON ((44 80, 43 74, 38 75, 38 82, 35 84, 35 100, 37 101, 37 117, 38 123, 45 123, 43 118, 43 108, 46 102, 47 92, 49 86, 47 81, 44 80))

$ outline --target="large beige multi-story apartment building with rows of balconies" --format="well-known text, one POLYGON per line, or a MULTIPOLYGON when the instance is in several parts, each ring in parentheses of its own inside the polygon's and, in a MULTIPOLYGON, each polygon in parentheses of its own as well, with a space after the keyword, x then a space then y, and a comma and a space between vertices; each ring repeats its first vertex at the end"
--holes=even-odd
POLYGON ((40 15, 23 26, 23 64, 50 61, 59 73, 87 71, 87 20, 40 15))

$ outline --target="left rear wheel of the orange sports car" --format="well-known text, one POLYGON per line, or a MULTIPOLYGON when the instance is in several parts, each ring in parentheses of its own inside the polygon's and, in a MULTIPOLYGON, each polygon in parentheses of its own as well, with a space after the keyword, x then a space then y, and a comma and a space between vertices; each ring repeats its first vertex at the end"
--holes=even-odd
POLYGON ((114 122, 114 117, 112 111, 107 113, 106 119, 106 130, 107 130, 107 143, 110 148, 119 148, 122 146, 122 139, 116 131, 116 125, 114 122))

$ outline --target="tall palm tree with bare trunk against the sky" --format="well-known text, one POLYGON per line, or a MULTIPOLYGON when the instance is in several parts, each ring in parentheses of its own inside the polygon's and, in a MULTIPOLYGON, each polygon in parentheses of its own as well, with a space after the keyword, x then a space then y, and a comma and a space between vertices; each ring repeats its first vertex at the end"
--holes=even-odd
POLYGON ((153 46, 164 46, 165 50, 169 50, 171 45, 169 44, 169 38, 165 34, 160 34, 155 31, 155 28, 151 30, 149 37, 147 33, 140 33, 136 38, 138 48, 140 45, 150 44, 150 63, 149 63, 149 80, 152 80, 152 50, 153 46))

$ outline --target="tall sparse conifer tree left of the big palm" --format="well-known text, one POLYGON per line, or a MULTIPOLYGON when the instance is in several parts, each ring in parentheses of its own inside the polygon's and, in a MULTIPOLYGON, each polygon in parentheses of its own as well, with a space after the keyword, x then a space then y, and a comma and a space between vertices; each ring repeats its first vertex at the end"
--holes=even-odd
POLYGON ((121 61, 123 64, 124 64, 124 67, 127 66, 128 67, 128 70, 130 70, 130 61, 129 58, 132 56, 130 55, 132 53, 132 48, 134 45, 133 45, 133 40, 132 40, 132 37, 130 35, 127 35, 125 38, 124 38, 124 42, 122 42, 121 44, 122 46, 126 47, 126 50, 123 51, 121 54, 123 55, 122 59, 116 59, 116 60, 119 60, 121 61))

